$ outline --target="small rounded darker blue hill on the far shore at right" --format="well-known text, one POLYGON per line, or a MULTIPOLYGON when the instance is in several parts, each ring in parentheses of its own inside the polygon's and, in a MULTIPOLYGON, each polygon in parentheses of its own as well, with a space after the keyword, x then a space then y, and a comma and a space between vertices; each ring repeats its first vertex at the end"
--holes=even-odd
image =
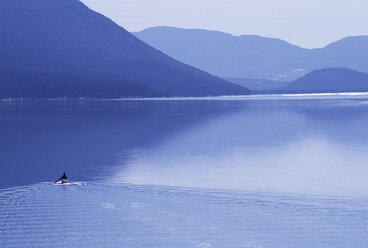
POLYGON ((346 68, 315 70, 278 90, 295 93, 368 91, 368 73, 346 68))

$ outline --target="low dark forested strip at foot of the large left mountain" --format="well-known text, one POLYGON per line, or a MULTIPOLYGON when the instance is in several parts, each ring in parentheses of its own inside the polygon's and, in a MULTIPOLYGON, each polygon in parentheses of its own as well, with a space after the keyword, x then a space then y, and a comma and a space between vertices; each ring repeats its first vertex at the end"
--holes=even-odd
POLYGON ((151 88, 54 73, 6 71, 0 73, 0 99, 4 98, 121 98, 167 96, 151 88))

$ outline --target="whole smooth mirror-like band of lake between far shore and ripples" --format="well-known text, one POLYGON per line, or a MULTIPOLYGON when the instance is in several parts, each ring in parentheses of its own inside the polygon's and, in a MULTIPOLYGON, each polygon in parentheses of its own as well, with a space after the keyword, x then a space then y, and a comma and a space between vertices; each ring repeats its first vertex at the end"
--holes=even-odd
POLYGON ((368 100, 0 103, 0 187, 77 180, 368 196, 368 100))

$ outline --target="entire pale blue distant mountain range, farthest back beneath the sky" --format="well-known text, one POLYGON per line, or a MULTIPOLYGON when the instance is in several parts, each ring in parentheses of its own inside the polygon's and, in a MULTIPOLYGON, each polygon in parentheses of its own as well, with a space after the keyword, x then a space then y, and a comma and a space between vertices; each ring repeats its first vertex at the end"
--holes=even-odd
POLYGON ((154 27, 133 33, 153 47, 222 78, 292 81, 307 72, 346 67, 368 72, 368 36, 305 49, 279 39, 200 29, 154 27))

